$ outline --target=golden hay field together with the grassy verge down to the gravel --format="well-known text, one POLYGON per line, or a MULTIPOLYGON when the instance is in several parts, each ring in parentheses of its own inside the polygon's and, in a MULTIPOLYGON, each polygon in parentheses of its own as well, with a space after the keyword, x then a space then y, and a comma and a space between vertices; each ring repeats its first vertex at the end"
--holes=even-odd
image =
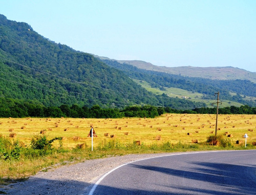
POLYGON ((219 115, 218 128, 220 130, 217 134, 222 135, 226 145, 221 147, 206 144, 207 137, 215 134, 215 117, 216 115, 203 114, 164 114, 155 119, 0 119, 2 123, 0 135, 12 143, 18 140, 19 143, 26 145, 19 160, 0 160, 0 181, 1 178, 2 181, 8 178, 26 178, 39 170, 47 171, 51 166, 116 155, 223 148, 245 149, 244 143, 241 143, 245 140, 243 138, 245 134, 249 137, 247 149, 255 148, 252 146, 252 142, 256 142, 255 115, 219 115), (56 124, 58 124, 57 127, 56 124), (98 136, 93 139, 93 151, 91 151, 91 138, 88 137, 92 125, 98 136), (22 126, 26 128, 22 129, 22 126), (14 131, 9 132, 10 128, 14 131), (68 128, 68 131, 64 131, 65 128, 68 128), (48 155, 40 156, 29 150, 31 140, 35 136, 40 136, 42 129, 46 129, 46 136, 49 140, 55 137, 65 138, 62 140, 63 149, 57 149, 58 141, 54 141, 53 147, 56 149, 48 155), (129 134, 125 135, 126 132, 129 134), (16 137, 9 138, 10 133, 15 133, 16 137), (105 137, 104 133, 115 135, 115 138, 105 137), (231 136, 227 137, 228 135, 231 136), (157 136, 161 136, 161 140, 155 140, 157 136), (79 139, 75 141, 74 137, 79 137, 79 139), (198 140, 198 143, 191 143, 191 140, 198 140), (236 144, 237 140, 240 140, 240 144, 236 144), (141 141, 141 145, 137 145, 135 141, 141 141), (84 143, 86 148, 77 149, 76 145, 81 143, 84 143))

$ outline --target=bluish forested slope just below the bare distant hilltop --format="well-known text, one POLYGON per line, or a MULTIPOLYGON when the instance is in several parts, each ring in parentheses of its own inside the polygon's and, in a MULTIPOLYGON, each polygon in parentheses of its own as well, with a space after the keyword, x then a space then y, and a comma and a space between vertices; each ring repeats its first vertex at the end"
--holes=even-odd
POLYGON ((256 84, 249 80, 211 80, 205 78, 184 77, 163 72, 148 71, 138 69, 130 64, 119 63, 114 60, 103 59, 104 63, 110 67, 124 72, 127 76, 144 80, 151 84, 152 88, 179 88, 191 92, 204 94, 205 99, 212 99, 217 91, 220 92, 222 99, 239 102, 242 104, 256 106, 256 101, 246 101, 244 96, 256 97, 256 84), (230 92, 237 95, 230 95, 230 92), (243 94, 241 96, 240 94, 243 94))

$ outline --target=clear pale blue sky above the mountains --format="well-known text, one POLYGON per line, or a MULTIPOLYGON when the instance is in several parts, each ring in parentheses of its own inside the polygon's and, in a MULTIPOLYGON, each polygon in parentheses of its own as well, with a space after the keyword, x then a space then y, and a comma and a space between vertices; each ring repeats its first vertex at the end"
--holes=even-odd
POLYGON ((256 1, 0 0, 0 14, 71 48, 166 67, 256 72, 256 1))

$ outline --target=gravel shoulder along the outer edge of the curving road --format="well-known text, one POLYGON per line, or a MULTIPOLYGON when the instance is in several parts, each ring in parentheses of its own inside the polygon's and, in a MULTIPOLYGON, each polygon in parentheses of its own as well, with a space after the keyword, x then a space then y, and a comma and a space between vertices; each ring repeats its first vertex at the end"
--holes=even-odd
POLYGON ((81 163, 40 171, 24 182, 4 186, 0 191, 7 194, 88 194, 93 184, 106 172, 122 164, 161 154, 136 154, 86 160, 81 163))

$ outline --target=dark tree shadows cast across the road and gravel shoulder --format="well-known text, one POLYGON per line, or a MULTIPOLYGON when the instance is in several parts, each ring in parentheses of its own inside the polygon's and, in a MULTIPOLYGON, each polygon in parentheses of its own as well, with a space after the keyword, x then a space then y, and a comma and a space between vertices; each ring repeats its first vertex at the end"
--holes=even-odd
MULTIPOLYGON (((158 189, 143 189, 133 187, 112 187, 103 182, 97 186, 94 194, 256 194, 255 165, 233 165, 211 162, 189 162, 191 165, 185 168, 175 169, 158 166, 138 165, 130 163, 126 166, 135 169, 145 169, 161 173, 168 178, 179 177, 214 184, 215 188, 207 189, 200 186, 183 184, 161 184, 158 189), (240 171, 243 170, 243 171, 240 171)), ((136 171, 136 170, 135 170, 136 171)), ((121 176, 125 177, 125 175, 121 176)), ((93 184, 84 181, 68 179, 41 179, 31 177, 29 180, 18 181, 1 188, 7 194, 89 194, 93 184)))

